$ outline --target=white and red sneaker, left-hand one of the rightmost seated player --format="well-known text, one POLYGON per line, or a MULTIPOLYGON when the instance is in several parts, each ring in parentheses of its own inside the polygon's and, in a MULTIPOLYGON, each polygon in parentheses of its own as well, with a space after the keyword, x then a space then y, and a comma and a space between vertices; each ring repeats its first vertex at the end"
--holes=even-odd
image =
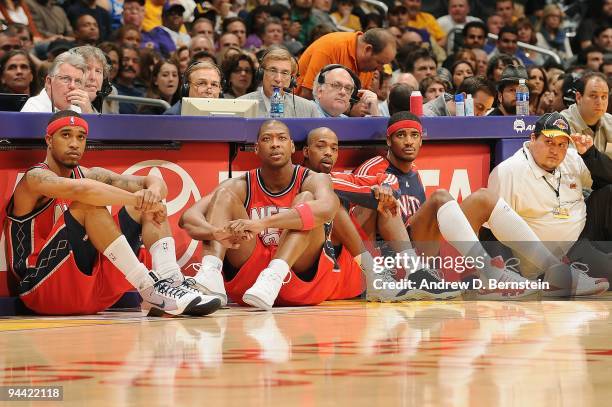
POLYGON ((539 294, 540 290, 534 288, 491 288, 492 284, 499 283, 519 283, 527 286, 530 280, 521 276, 518 272, 520 261, 517 258, 510 258, 506 262, 501 256, 491 259, 491 265, 481 271, 481 281, 483 287, 478 290, 479 300, 517 300, 539 294), (482 277, 483 275, 485 275, 482 277))

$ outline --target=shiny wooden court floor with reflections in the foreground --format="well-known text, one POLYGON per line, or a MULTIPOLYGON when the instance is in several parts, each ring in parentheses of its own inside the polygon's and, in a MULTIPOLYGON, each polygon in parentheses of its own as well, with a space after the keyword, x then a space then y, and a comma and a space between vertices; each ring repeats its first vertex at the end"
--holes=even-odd
POLYGON ((603 406, 611 308, 334 302, 0 319, 0 385, 62 385, 62 406, 603 406))

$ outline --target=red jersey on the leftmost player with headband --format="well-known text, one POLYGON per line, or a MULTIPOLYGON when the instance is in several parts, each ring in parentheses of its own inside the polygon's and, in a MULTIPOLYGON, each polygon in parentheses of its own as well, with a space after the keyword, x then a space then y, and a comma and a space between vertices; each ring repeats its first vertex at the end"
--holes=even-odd
MULTIPOLYGON (((26 170, 26 173, 35 168, 49 169, 45 163, 38 163, 26 170)), ((80 167, 72 170, 71 178, 85 178, 80 167)), ((70 201, 63 199, 49 199, 40 208, 22 215, 13 215, 13 197, 6 207, 7 219, 5 223, 6 254, 9 269, 14 277, 21 281, 29 269, 36 267, 40 251, 52 236, 49 234, 53 226, 70 206, 70 201)), ((50 258, 51 263, 61 262, 61 256, 50 258)))

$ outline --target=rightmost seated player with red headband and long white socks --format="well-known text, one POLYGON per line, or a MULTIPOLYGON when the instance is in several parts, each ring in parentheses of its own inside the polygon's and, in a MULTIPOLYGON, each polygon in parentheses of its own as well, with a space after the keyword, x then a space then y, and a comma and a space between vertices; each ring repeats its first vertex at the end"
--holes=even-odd
MULTIPOLYGON (((437 242, 444 238, 462 256, 484 259, 484 267, 478 270, 484 283, 478 292, 481 299, 512 299, 535 294, 537 290, 532 288, 490 289, 490 280, 525 283, 526 279, 506 268, 501 257, 492 259, 485 251, 474 231, 478 231, 487 222, 491 232, 500 242, 529 259, 544 273, 544 280, 550 285, 544 295, 601 293, 603 282, 561 263, 506 201, 492 191, 481 188, 465 198, 461 204, 445 190, 437 190, 425 200, 423 184, 414 166, 422 143, 420 119, 410 112, 397 112, 391 116, 387 127, 389 149, 386 157, 378 156, 366 161, 355 173, 390 173, 397 177, 401 191, 400 208, 411 241, 417 242, 417 245, 427 242, 427 255, 435 255, 438 250, 437 242), (578 281, 580 284, 578 289, 575 289, 578 281)), ((371 216, 371 213, 363 215, 358 211, 355 213, 359 224, 368 222, 367 217, 371 216)), ((605 284, 607 285, 607 282, 605 284)))

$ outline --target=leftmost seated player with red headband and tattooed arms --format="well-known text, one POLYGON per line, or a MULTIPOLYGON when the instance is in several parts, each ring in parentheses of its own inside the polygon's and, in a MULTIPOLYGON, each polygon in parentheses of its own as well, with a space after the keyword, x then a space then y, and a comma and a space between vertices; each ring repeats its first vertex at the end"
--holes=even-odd
POLYGON ((93 314, 135 287, 157 314, 217 310, 220 301, 176 264, 164 181, 79 166, 88 129, 78 113, 54 114, 45 160, 26 170, 8 204, 7 259, 23 302, 39 314, 93 314), (123 208, 113 217, 107 205, 123 208), (147 254, 143 241, 152 271, 137 257, 147 254))

